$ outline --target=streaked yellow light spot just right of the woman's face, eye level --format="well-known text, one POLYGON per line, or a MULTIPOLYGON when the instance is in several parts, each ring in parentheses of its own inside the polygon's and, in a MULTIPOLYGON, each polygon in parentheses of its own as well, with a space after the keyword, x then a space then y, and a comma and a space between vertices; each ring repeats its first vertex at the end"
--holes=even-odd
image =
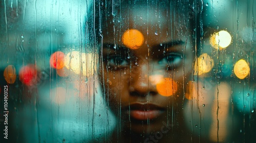
POLYGON ((198 74, 200 76, 204 73, 208 73, 212 67, 214 67, 214 60, 208 54, 204 53, 197 58, 197 62, 194 66, 194 75, 198 74))

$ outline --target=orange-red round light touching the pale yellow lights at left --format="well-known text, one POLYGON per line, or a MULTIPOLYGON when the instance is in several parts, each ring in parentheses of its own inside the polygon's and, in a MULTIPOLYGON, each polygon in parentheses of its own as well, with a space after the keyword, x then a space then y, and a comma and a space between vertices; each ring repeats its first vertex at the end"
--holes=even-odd
POLYGON ((60 51, 53 53, 50 57, 51 67, 57 68, 57 69, 62 68, 63 66, 65 66, 64 59, 65 59, 64 53, 60 51))

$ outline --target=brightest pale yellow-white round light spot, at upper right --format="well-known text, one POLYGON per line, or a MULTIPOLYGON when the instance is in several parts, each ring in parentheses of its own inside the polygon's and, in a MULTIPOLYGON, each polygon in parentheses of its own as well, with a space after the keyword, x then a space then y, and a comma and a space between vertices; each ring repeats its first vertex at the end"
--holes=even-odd
POLYGON ((231 35, 227 31, 222 30, 212 34, 212 36, 210 37, 210 44, 215 49, 222 50, 230 45, 231 40, 231 35))

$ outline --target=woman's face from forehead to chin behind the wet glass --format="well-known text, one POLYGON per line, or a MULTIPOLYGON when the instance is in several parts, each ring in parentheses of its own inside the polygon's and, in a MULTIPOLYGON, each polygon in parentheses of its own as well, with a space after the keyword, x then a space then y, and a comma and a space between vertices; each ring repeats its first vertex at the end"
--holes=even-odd
POLYGON ((101 50, 112 111, 124 129, 137 133, 160 131, 164 123, 176 126, 195 55, 188 19, 139 6, 116 17, 103 23, 101 50))

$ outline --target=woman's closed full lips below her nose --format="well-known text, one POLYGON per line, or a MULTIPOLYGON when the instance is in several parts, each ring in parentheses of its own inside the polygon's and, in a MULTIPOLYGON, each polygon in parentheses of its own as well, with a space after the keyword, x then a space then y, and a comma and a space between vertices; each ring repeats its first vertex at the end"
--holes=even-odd
POLYGON ((134 103, 130 105, 130 115, 135 120, 152 120, 163 112, 163 108, 152 103, 134 103))

